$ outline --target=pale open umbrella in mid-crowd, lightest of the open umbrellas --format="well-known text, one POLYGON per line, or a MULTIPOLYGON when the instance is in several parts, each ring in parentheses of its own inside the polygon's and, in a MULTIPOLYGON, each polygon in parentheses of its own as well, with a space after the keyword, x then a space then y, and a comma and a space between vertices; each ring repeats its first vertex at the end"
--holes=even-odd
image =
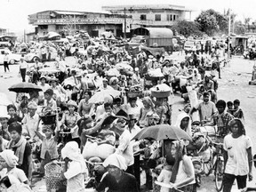
POLYGON ((101 90, 100 92, 95 92, 95 94, 92 95, 92 98, 88 101, 91 103, 100 103, 104 102, 105 97, 112 96, 113 98, 116 98, 120 93, 121 92, 116 90, 101 90))

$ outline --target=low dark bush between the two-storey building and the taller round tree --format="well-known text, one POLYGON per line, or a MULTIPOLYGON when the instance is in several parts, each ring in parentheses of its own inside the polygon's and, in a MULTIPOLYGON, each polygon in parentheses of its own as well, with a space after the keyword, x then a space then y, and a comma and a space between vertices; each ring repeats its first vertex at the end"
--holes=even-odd
POLYGON ((178 20, 173 26, 172 31, 177 31, 183 36, 202 36, 203 33, 199 30, 200 25, 194 21, 178 20))

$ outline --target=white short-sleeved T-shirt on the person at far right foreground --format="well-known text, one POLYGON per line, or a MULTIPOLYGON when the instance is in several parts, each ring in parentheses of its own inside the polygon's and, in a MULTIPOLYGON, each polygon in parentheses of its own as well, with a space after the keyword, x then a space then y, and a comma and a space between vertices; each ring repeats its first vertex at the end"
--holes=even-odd
POLYGON ((248 148, 252 148, 252 140, 245 135, 233 138, 228 134, 224 138, 224 150, 228 152, 225 173, 233 175, 247 175, 249 173, 248 148))

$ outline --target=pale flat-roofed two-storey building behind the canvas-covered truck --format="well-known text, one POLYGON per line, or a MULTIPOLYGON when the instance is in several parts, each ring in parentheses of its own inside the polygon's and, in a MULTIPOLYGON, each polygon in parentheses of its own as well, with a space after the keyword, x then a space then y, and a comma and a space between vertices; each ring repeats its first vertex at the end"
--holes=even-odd
POLYGON ((185 6, 172 4, 116 5, 103 6, 102 9, 132 16, 132 28, 170 28, 177 20, 191 20, 192 12, 185 6))

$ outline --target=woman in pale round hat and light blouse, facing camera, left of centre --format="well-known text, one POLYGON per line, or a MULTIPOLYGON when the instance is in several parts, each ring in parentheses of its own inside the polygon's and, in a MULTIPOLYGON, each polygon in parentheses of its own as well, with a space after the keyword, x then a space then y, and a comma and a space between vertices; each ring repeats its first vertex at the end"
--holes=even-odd
POLYGON ((77 144, 80 146, 80 139, 78 135, 77 126, 77 121, 80 119, 80 116, 78 115, 78 113, 75 112, 77 104, 74 100, 69 100, 67 107, 69 113, 63 114, 61 124, 64 125, 64 130, 70 131, 71 133, 72 139, 70 139, 70 135, 68 135, 69 138, 67 138, 67 141, 75 140, 77 144))

